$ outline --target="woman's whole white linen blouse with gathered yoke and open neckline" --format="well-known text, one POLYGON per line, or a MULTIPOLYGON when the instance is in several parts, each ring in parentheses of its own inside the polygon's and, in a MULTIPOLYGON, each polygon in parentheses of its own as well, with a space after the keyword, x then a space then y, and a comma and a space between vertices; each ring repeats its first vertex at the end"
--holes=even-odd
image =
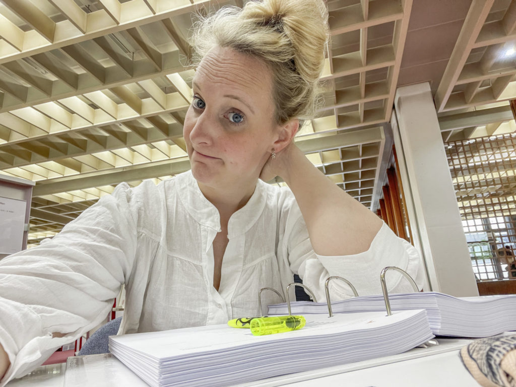
MULTIPOLYGON (((363 253, 315 254, 293 193, 262 181, 229 220, 216 291, 212 244, 218 232, 217 209, 185 172, 157 186, 120 184, 53 239, 0 261, 0 343, 11 361, 0 387, 100 324, 121 284, 126 301, 119 333, 134 333, 255 316, 259 290, 284 293, 293 273, 321 301, 333 275, 347 278, 361 295, 381 292, 385 266, 423 283, 417 251, 385 224, 363 253), (53 338, 53 332, 67 334, 53 338)), ((332 299, 351 297, 339 282, 331 285, 332 299)), ((411 291, 398 273, 387 282, 392 291, 411 291)), ((279 301, 263 293, 264 305, 279 301)))

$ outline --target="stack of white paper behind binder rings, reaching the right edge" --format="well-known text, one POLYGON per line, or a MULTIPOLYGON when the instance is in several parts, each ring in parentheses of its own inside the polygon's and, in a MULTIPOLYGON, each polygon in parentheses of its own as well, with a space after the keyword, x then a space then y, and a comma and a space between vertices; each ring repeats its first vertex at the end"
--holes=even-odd
MULTIPOLYGON (((516 295, 457 298, 436 292, 389 295, 391 309, 426 309, 432 332, 441 336, 486 337, 516 330, 516 295)), ((385 311, 382 295, 332 302, 333 313, 385 311)), ((328 313, 323 302, 292 302, 292 314, 328 313)), ((287 313, 287 305, 269 305, 269 315, 287 313)))

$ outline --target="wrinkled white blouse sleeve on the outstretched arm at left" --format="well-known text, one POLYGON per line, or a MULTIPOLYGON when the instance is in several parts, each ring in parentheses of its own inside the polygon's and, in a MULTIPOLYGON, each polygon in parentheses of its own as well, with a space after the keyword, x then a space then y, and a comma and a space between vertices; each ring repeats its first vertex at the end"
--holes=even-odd
POLYGON ((120 184, 51 240, 0 261, 0 343, 11 362, 0 387, 107 316, 133 265, 137 196, 120 184))

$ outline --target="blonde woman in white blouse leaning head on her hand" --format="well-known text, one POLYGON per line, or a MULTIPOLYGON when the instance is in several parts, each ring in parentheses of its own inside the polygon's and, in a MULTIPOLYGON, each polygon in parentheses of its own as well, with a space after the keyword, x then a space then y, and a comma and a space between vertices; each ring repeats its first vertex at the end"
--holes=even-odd
MULTIPOLYGON (((293 144, 314 114, 326 18, 320 0, 265 0, 197 25, 184 123, 191 171, 157 187, 121 184, 48 243, 0 263, 4 381, 98 325, 123 283, 119 333, 256 315, 260 288, 284 290, 293 273, 318 299, 330 275, 379 293, 388 265, 422 283, 415 250, 293 144), (260 180, 276 175, 289 189, 260 180)), ((352 294, 338 283, 332 293, 352 294)))

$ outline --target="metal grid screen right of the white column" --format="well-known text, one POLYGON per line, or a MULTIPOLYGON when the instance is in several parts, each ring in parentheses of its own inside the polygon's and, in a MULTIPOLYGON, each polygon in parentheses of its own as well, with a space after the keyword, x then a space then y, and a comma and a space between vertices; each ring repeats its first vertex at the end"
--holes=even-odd
POLYGON ((516 279, 515 146, 514 133, 445 143, 477 281, 516 279))

